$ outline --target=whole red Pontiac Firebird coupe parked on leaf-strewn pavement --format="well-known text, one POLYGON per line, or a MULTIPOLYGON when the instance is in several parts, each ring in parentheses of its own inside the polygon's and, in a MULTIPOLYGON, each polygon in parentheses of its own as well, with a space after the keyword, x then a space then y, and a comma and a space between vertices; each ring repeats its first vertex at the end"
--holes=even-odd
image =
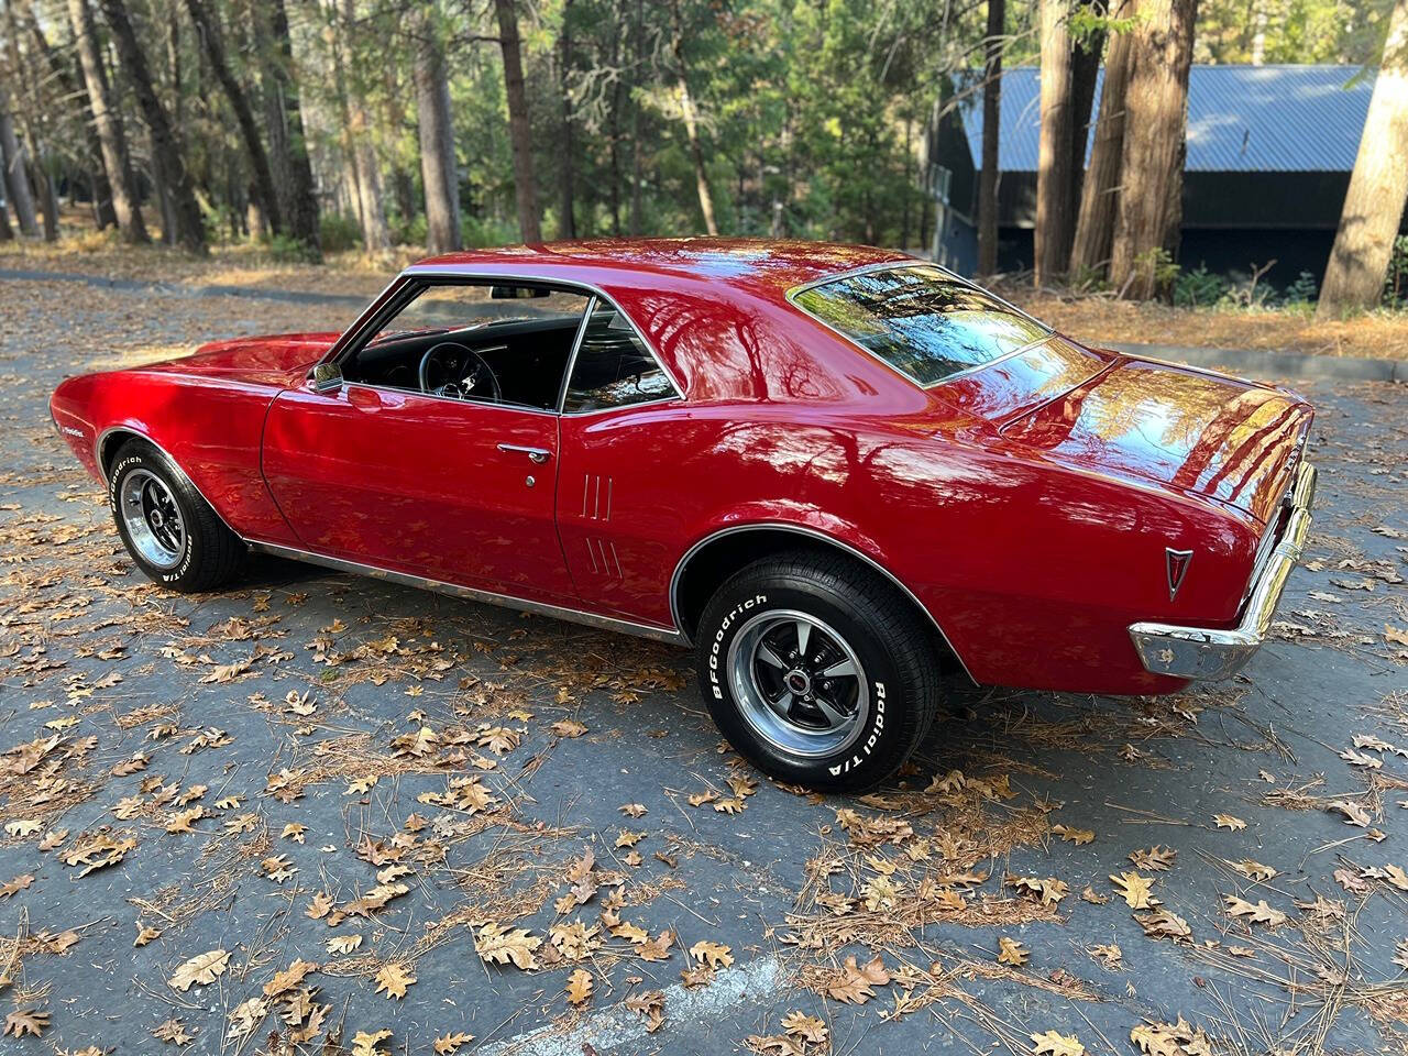
POLYGON ((168 587, 262 551, 693 643, 734 746, 824 788, 894 774, 946 667, 1232 674, 1315 489, 1291 393, 800 242, 441 256, 342 334, 72 377, 51 410, 168 587))

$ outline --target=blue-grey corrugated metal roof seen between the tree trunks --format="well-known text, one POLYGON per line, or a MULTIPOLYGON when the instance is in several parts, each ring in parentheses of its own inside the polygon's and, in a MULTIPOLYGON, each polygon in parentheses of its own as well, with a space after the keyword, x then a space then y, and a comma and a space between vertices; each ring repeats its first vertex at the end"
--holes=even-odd
MULTIPOLYGON (((1004 172, 1036 169, 1038 77, 1036 66, 1014 66, 1002 75, 998 159, 1004 172)), ((1188 77, 1186 169, 1349 172, 1373 90, 1373 72, 1359 66, 1194 66, 1188 77)), ((1098 107, 1097 87, 1093 117, 1098 107)), ((980 165, 980 92, 970 97, 963 124, 973 163, 980 165)))

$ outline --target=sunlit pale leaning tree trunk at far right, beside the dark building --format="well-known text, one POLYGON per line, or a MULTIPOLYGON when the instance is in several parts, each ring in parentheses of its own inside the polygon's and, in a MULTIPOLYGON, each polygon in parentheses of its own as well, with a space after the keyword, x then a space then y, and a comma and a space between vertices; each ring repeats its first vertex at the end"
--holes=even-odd
POLYGON ((1388 23, 1384 58, 1369 101, 1359 156, 1349 177, 1335 248, 1325 269, 1315 314, 1332 318, 1346 308, 1371 308, 1383 297, 1384 276, 1408 199, 1408 0, 1398 0, 1388 23))

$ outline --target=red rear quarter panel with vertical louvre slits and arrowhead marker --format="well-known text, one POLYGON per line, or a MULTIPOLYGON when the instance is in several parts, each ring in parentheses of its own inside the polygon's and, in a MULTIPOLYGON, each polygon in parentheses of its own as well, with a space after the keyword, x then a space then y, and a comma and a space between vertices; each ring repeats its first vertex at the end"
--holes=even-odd
POLYGON ((565 418, 558 510, 579 589, 669 624, 690 546, 734 525, 790 524, 900 579, 981 683, 1178 689, 1143 670, 1126 628, 1232 622, 1250 518, 1033 460, 990 431, 936 431, 919 393, 910 410, 879 424, 753 403, 565 418), (1177 603, 1166 546, 1197 551, 1177 603))

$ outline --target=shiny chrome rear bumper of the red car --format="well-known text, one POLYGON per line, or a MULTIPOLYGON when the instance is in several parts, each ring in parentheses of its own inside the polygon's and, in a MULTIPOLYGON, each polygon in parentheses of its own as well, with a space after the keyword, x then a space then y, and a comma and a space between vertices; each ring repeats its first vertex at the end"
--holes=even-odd
POLYGON ((1291 514, 1270 560, 1262 569, 1242 610, 1242 622, 1218 631, 1173 624, 1132 624, 1129 636, 1145 669, 1174 679, 1226 679, 1252 659, 1276 615, 1286 580, 1301 558, 1311 529, 1315 466, 1302 462, 1291 490, 1291 514))

